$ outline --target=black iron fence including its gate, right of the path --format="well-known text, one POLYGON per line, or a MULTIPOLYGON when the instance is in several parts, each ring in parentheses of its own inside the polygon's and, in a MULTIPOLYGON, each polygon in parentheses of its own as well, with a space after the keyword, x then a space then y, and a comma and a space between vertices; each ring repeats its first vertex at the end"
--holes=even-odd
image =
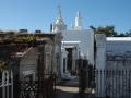
POLYGON ((84 69, 80 74, 81 98, 131 98, 130 70, 84 69))

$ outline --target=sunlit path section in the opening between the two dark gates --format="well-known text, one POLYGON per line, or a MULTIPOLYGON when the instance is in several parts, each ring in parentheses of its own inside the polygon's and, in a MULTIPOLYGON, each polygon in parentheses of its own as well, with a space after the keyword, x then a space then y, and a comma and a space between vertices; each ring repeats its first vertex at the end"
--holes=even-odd
POLYGON ((79 78, 71 81, 60 81, 56 86, 57 98, 80 98, 79 78))

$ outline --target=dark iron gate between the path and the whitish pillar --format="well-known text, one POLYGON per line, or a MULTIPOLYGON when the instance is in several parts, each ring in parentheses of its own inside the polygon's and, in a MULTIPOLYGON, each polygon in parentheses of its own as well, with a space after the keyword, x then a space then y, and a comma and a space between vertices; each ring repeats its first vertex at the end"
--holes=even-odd
POLYGON ((81 98, 94 98, 92 90, 96 87, 96 74, 93 65, 83 65, 79 74, 79 94, 81 98))

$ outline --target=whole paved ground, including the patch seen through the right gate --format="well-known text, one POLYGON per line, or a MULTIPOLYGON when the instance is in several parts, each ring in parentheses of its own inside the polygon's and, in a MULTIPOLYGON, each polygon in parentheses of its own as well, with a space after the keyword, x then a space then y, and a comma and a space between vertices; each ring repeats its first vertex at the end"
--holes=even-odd
POLYGON ((80 96, 79 77, 70 81, 59 81, 56 86, 56 98, 95 98, 94 89, 86 88, 80 96))

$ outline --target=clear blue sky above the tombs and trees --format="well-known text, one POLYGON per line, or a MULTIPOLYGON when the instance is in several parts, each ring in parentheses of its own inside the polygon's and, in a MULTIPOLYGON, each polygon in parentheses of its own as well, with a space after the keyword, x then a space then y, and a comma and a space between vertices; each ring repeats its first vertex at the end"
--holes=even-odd
POLYGON ((131 29, 131 0, 0 0, 0 29, 50 32, 56 22, 58 5, 61 5, 63 22, 74 24, 76 12, 81 12, 83 28, 115 25, 115 30, 131 29))

